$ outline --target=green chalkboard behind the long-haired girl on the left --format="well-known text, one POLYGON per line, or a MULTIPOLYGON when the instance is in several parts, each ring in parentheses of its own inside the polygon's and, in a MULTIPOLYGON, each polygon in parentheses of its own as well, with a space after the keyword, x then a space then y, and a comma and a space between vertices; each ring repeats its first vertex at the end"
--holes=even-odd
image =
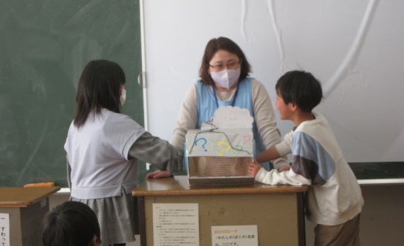
POLYGON ((92 59, 127 76, 123 112, 143 125, 139 1, 0 1, 0 186, 67 187, 63 144, 92 59))

